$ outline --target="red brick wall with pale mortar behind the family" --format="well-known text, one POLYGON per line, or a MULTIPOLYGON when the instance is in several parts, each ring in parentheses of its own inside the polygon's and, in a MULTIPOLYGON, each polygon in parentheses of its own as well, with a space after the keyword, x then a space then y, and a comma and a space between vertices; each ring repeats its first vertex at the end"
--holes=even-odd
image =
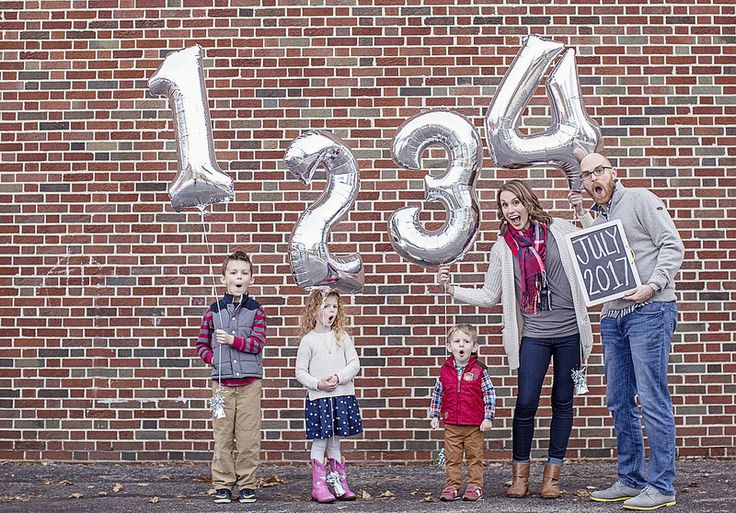
MULTIPOLYGON (((282 158, 303 130, 321 128, 353 148, 362 180, 331 246, 359 251, 366 271, 349 308, 366 431, 346 443, 349 458, 436 455, 441 432, 428 429, 428 395, 445 323, 463 321, 480 326, 497 386, 488 457, 508 459, 516 377, 500 345, 500 309, 446 307, 427 294, 433 273, 393 251, 386 223, 420 204, 427 172, 444 169, 436 150, 426 170, 400 169, 390 155, 397 127, 445 107, 484 137, 485 109, 527 34, 577 50, 607 153, 628 185, 664 198, 685 241, 670 366, 679 455, 735 454, 732 2, 253 3, 0 5, 0 458, 208 460, 208 371, 192 346, 222 255, 245 249, 270 316, 263 458, 305 460, 304 390, 293 370, 305 293, 286 256, 298 215, 324 182, 301 185, 282 158), (167 52, 195 43, 205 49, 217 159, 236 180, 235 201, 216 205, 204 224, 171 209, 172 114, 147 94, 167 52)), ((548 122, 540 87, 524 126, 548 122)), ((462 283, 481 284, 497 233, 494 191, 519 177, 570 218, 560 171, 498 169, 486 156, 481 235, 453 269, 462 283)), ((575 401, 576 458, 610 458, 615 445, 593 320, 591 393, 575 401)), ((549 376, 535 457, 544 454, 548 385, 549 376)))

